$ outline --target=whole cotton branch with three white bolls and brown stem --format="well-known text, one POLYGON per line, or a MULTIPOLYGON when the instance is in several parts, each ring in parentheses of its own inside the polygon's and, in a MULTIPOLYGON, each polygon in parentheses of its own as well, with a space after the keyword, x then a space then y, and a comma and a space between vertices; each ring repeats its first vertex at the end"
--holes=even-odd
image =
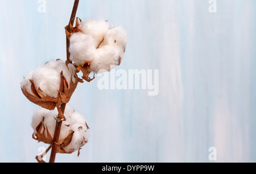
MULTIPOLYGON (((72 154, 89 141, 89 126, 82 114, 67 106, 79 83, 92 81, 90 73, 110 71, 123 59, 127 34, 108 20, 75 18, 79 0, 75 0, 71 19, 65 27, 67 61, 57 59, 31 71, 20 83, 28 100, 39 105, 32 117, 32 138, 50 144, 50 163, 57 153, 72 154), (75 26, 73 23, 76 20, 75 26), (79 78, 77 73, 82 72, 79 78)), ((44 162, 42 156, 36 156, 44 162), (39 158, 41 157, 41 158, 39 158)))

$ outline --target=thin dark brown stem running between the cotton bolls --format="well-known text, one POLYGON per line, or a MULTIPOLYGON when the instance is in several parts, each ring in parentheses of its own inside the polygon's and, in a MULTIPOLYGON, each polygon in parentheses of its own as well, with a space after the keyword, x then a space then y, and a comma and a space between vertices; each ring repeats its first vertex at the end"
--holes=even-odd
MULTIPOLYGON (((74 19, 76 17, 76 11, 77 11, 78 6, 79 6, 79 0, 75 0, 73 10, 72 10, 72 14, 71 14, 71 18, 70 18, 68 26, 67 26, 68 31, 70 31, 69 24, 73 25, 73 23, 74 23, 74 19)), ((69 39, 67 38, 66 40, 67 40, 67 61, 72 63, 72 61, 69 59, 69 56, 70 56, 70 53, 69 53, 69 39)), ((58 117, 60 117, 60 118, 63 117, 65 107, 66 107, 65 103, 61 104, 60 110, 58 110, 59 111, 58 117)), ((59 146, 58 142, 59 142, 60 129, 61 129, 62 122, 63 121, 61 121, 59 119, 56 119, 56 127, 55 127, 54 136, 53 136, 52 151, 51 151, 51 156, 50 156, 50 159, 49 159, 49 163, 54 163, 55 162, 57 147, 59 146)))

